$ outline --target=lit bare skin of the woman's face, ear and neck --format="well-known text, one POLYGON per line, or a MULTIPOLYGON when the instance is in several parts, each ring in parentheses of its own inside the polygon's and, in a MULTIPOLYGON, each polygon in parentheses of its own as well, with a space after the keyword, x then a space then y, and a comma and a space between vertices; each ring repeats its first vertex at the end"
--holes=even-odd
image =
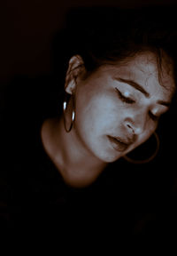
POLYGON ((42 125, 44 148, 66 183, 88 186, 107 164, 150 138, 173 97, 173 68, 167 60, 165 56, 160 79, 150 52, 101 66, 84 78, 81 56, 73 56, 65 78, 65 92, 75 101, 73 129, 65 132, 63 117, 42 125), (108 136, 119 137, 121 143, 108 136))

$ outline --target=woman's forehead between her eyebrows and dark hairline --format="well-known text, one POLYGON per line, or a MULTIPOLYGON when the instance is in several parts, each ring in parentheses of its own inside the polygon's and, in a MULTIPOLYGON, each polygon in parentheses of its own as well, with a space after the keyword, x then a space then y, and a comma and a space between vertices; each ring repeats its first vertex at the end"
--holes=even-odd
POLYGON ((173 64, 165 55, 160 67, 154 53, 143 52, 112 66, 111 72, 112 76, 120 76, 141 84, 151 95, 158 92, 170 100, 175 91, 173 64))

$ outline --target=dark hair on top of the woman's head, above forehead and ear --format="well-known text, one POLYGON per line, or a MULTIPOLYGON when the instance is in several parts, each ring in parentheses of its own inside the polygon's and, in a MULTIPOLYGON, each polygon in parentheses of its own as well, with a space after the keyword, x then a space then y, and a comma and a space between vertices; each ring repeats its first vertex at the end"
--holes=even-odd
POLYGON ((175 10, 172 6, 71 9, 63 31, 54 40, 55 64, 60 61, 56 70, 65 76, 68 61, 75 54, 81 55, 90 74, 104 64, 114 65, 149 51, 157 57, 158 70, 163 52, 171 57, 176 77, 175 10))

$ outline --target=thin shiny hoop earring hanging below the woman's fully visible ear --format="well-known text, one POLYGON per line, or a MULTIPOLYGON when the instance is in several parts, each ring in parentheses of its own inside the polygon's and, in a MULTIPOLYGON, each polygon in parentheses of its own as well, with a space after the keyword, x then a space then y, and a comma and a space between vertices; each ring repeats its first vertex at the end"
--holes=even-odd
POLYGON ((65 100, 63 102, 63 113, 64 113, 65 132, 70 132, 73 127, 73 122, 75 120, 75 111, 74 111, 73 95, 68 94, 66 92, 65 92, 65 100), (72 114, 72 117, 71 117, 71 114, 72 114), (66 116, 69 116, 69 118, 66 118, 66 116))

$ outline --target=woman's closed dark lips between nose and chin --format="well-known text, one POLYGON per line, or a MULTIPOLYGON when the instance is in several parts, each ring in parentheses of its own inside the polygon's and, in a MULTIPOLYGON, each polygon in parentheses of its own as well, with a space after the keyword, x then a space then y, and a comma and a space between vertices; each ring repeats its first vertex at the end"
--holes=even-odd
POLYGON ((107 137, 112 143, 112 147, 119 152, 126 151, 130 144, 133 142, 132 140, 123 140, 119 137, 112 137, 109 135, 107 137))

